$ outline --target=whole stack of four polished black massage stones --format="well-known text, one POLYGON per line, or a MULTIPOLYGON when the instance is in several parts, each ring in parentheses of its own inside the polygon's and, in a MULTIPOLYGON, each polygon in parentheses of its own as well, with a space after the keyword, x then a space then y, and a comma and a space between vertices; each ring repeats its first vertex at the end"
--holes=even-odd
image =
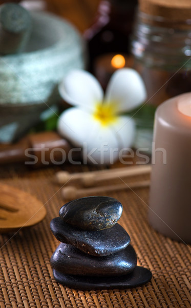
POLYGON ((122 204, 110 197, 86 197, 60 208, 50 227, 61 242, 51 257, 56 281, 80 290, 135 287, 152 274, 137 266, 128 233, 117 223, 122 204))

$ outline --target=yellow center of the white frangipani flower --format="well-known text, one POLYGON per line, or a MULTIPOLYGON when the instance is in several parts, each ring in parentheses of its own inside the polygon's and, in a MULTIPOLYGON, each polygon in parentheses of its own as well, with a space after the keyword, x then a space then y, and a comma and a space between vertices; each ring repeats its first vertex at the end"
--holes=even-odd
POLYGON ((101 122, 102 126, 110 125, 117 120, 114 104, 97 103, 95 106, 94 119, 101 122))

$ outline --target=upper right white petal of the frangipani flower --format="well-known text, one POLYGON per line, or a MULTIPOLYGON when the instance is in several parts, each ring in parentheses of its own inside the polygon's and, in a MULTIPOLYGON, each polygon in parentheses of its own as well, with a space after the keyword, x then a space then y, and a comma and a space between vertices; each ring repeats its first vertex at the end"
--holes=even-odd
POLYGON ((145 99, 144 83, 134 69, 122 68, 112 75, 105 93, 105 102, 114 102, 117 112, 130 111, 145 99))

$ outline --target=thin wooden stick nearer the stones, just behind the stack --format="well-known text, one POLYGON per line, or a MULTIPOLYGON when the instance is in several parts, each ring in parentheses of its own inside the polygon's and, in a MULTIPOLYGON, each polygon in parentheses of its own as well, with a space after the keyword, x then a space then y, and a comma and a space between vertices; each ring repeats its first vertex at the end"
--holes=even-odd
POLYGON ((99 187, 92 187, 92 188, 83 188, 79 189, 75 186, 67 186, 62 188, 61 194, 62 197, 66 200, 73 200, 81 197, 86 196, 94 196, 100 195, 102 192, 110 192, 110 191, 120 191, 120 190, 128 190, 128 189, 135 189, 135 188, 143 188, 150 186, 150 181, 140 181, 140 182, 133 182, 128 184, 118 184, 118 185, 107 185, 107 186, 99 186, 99 187))

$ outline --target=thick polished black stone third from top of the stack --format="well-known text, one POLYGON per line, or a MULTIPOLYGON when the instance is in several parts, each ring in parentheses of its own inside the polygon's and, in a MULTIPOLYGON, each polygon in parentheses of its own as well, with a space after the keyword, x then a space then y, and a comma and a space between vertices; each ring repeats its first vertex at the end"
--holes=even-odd
POLYGON ((116 254, 94 257, 80 252, 72 245, 61 243, 50 262, 56 271, 63 274, 119 276, 133 271, 137 265, 137 256, 131 245, 116 254))

